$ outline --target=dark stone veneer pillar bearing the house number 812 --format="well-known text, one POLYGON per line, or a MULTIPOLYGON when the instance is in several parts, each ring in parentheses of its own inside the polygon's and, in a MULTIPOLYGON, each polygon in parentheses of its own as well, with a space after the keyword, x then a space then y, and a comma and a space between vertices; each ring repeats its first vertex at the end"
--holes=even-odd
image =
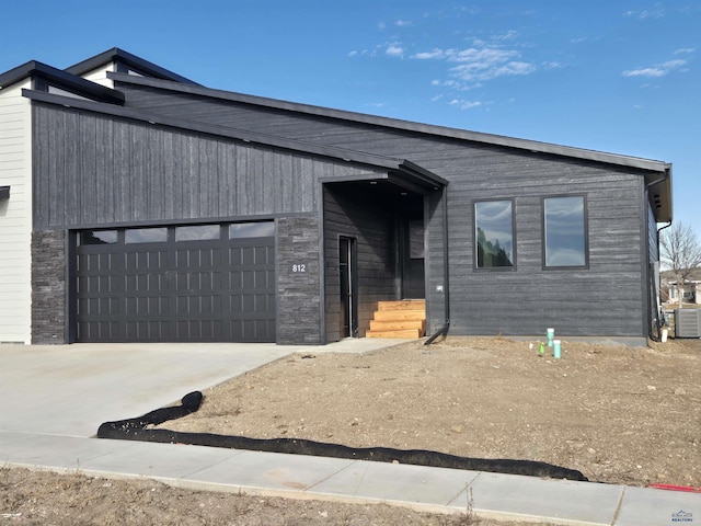
POLYGON ((319 220, 287 217, 277 221, 277 343, 323 344, 319 220))

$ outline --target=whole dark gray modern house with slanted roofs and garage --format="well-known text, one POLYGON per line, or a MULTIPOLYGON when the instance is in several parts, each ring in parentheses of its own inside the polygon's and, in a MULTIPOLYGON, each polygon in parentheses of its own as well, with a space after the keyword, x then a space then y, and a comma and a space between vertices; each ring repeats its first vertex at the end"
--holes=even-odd
MULTIPOLYGON (((655 318, 666 162, 202 87, 120 49, 0 75, 0 341, 324 344, 655 318)), ((576 126, 576 123, 571 123, 576 126)))

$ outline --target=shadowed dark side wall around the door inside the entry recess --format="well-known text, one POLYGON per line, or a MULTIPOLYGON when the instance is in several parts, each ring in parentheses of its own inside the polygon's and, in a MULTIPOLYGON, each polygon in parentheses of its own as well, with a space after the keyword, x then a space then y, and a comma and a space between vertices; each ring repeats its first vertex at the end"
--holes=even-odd
POLYGON ((397 299, 397 241, 392 204, 344 184, 324 185, 326 338, 341 339, 338 237, 356 240, 358 335, 365 336, 377 302, 397 299))

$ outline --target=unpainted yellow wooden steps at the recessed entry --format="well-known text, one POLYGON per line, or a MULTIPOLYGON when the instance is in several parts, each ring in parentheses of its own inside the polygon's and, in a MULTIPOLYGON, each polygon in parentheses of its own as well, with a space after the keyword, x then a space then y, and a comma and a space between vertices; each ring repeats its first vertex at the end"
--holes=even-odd
POLYGON ((378 301, 366 338, 421 338, 426 332, 426 300, 378 301))

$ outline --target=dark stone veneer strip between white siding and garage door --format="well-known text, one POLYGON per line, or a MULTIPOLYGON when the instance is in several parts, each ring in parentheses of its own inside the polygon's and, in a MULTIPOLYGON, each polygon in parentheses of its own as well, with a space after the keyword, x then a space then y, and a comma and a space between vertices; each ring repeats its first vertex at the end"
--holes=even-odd
POLYGON ((32 343, 66 341, 66 231, 32 233, 32 343))

